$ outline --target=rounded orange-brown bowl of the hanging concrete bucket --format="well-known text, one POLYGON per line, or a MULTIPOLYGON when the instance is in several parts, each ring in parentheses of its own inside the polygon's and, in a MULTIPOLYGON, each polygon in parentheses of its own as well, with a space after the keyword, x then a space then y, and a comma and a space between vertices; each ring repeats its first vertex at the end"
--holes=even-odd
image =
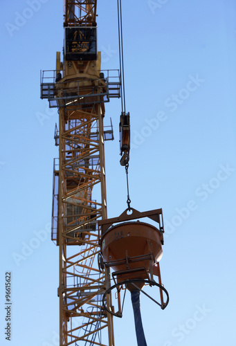
POLYGON ((140 221, 112 226, 101 237, 102 257, 119 273, 118 282, 148 279, 152 266, 161 260, 162 244, 161 231, 140 221))

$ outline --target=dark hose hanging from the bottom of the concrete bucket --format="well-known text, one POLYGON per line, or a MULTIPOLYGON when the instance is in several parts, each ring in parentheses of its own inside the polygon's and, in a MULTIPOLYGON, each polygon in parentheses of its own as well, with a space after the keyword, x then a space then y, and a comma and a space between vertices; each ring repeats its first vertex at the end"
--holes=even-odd
POLYGON ((140 291, 131 291, 131 301, 134 309, 134 322, 138 346, 147 346, 143 331, 143 323, 140 312, 140 291))

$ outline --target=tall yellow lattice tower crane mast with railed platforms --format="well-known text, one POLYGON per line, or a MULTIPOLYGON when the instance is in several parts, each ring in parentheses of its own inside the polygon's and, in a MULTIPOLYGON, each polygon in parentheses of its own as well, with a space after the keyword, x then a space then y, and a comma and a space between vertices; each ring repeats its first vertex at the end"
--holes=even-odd
MULTIPOLYGON (((114 139, 112 125, 103 124, 105 102, 120 96, 120 77, 100 70, 96 8, 96 0, 64 2, 63 62, 57 52, 56 70, 41 76, 41 98, 59 113, 52 240, 60 253, 60 346, 114 346, 113 317, 102 308, 109 269, 100 271, 97 255, 98 219, 107 219, 104 142, 114 139), (92 197, 94 186, 100 200, 92 197)), ((107 305, 112 309, 110 295, 107 305)))

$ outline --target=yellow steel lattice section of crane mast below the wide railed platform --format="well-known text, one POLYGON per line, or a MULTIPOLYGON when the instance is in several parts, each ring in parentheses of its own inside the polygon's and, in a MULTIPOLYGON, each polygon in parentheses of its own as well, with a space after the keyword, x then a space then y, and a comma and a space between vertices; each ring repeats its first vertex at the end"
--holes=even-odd
POLYGON ((107 217, 102 107, 98 103, 90 111, 68 108, 60 108, 56 238, 62 345, 82 340, 84 345, 102 345, 99 331, 111 323, 102 311, 105 273, 95 262, 99 252, 96 220, 107 217), (93 136, 94 128, 100 131, 93 136), (100 203, 92 200, 96 184, 102 191, 100 203))

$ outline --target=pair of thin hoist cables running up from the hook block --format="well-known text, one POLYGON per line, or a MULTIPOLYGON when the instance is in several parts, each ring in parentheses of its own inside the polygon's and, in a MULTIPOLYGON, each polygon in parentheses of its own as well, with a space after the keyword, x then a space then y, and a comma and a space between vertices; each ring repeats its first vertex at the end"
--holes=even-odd
POLYGON ((117 0, 118 10, 118 37, 119 37, 119 58, 120 58, 120 93, 121 93, 121 109, 125 112, 125 71, 124 71, 124 53, 123 53, 123 35, 122 35, 122 8, 121 0, 117 0))

